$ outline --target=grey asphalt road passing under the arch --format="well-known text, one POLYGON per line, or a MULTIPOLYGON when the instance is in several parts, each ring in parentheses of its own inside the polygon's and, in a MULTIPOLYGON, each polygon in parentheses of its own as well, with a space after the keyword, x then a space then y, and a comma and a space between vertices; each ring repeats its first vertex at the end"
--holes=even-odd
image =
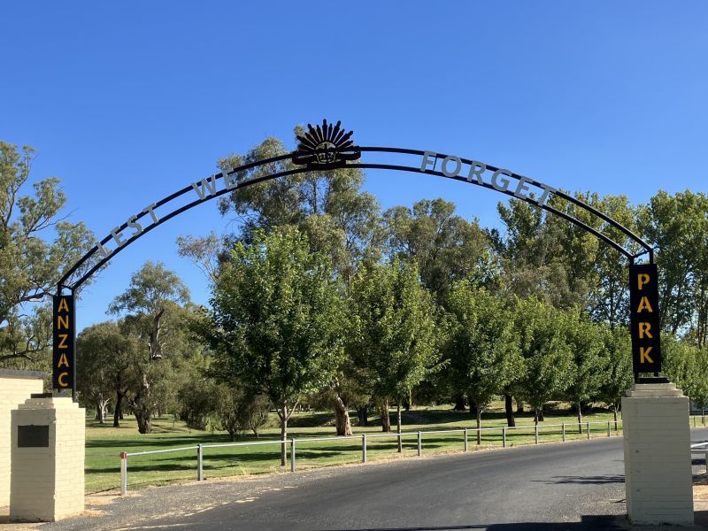
POLYGON ((38 528, 628 529, 624 498, 622 438, 612 437, 146 489, 96 507, 102 517, 38 528))

